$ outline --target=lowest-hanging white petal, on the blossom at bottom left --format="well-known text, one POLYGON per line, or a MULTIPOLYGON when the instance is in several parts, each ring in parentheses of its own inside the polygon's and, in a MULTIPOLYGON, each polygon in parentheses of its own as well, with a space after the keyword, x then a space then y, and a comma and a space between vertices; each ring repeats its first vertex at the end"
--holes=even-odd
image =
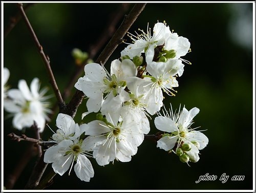
POLYGON ((83 181, 89 182, 94 176, 93 166, 90 160, 84 155, 78 155, 74 166, 76 176, 83 181))

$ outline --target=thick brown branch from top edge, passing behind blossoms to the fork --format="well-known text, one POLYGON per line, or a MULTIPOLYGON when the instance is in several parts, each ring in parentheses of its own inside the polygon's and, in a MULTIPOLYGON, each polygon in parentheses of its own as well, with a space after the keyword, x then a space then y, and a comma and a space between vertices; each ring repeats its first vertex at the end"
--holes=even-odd
MULTIPOLYGON (((130 13, 124 17, 122 24, 117 29, 113 37, 110 39, 104 50, 101 52, 96 60, 96 63, 102 63, 102 65, 104 65, 104 63, 109 59, 110 55, 114 52, 117 46, 122 42, 123 36, 127 33, 127 31, 135 22, 139 14, 143 11, 145 5, 146 4, 135 4, 130 13)), ((67 105, 67 110, 65 113, 70 115, 71 117, 74 117, 83 97, 83 92, 77 91, 67 105)))

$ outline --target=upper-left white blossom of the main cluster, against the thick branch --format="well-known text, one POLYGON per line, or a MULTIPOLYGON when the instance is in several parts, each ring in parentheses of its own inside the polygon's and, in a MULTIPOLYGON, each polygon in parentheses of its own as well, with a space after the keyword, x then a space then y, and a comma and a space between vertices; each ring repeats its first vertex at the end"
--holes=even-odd
MULTIPOLYGON (((85 75, 78 79, 75 88, 83 91, 89 97, 87 101, 88 112, 82 117, 98 112, 104 100, 114 97, 126 85, 126 78, 137 75, 134 63, 129 59, 121 61, 113 60, 111 63, 111 74, 109 74, 98 63, 89 63, 84 67, 85 75), (106 94, 103 98, 103 94, 106 94)), ((110 99, 109 99, 110 100, 110 99)))

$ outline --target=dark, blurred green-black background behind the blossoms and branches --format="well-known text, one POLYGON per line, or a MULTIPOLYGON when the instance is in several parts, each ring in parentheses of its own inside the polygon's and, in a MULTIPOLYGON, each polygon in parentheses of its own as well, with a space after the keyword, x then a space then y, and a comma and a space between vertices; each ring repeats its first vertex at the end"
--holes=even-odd
MULTIPOLYGON (((127 2, 129 3, 129 2, 127 2)), ((26 5, 26 4, 25 4, 26 5)), ((9 18, 18 9, 13 3, 4 5, 4 29, 9 18)), ((90 51, 111 14, 120 9, 120 3, 38 3, 27 11, 39 42, 50 57, 51 67, 61 92, 69 83, 76 65, 71 55, 73 48, 90 51)), ((128 14, 134 4, 129 4, 123 13, 128 14)), ((209 144, 201 151, 197 163, 181 163, 176 155, 168 154, 146 141, 139 146, 131 162, 115 161, 106 166, 97 165, 91 159, 95 176, 89 183, 80 181, 74 171, 56 175, 47 189, 252 189, 253 185, 253 6, 254 3, 148 3, 129 32, 138 28, 146 30, 147 23, 166 21, 170 29, 189 39, 192 52, 184 59, 192 65, 185 65, 184 73, 177 78, 179 87, 175 97, 164 100, 166 106, 172 103, 174 109, 185 105, 189 110, 196 106, 200 113, 195 117, 193 127, 207 130, 204 134, 209 144), (215 181, 195 183, 201 175, 218 176, 215 181), (226 173, 229 179, 221 183, 220 176, 226 173), (243 181, 231 181, 233 175, 245 176, 243 181)), ((123 16, 116 28, 122 22, 123 16)), ((131 42, 127 36, 124 38, 131 42)), ((120 56, 126 45, 121 44, 106 63, 120 56)), ((93 58, 96 60, 98 54, 93 58)), ((4 63, 2 68, 10 70, 8 84, 17 88, 19 79, 28 84, 38 77, 42 87, 49 87, 49 78, 24 20, 20 20, 4 39, 4 63)), ((83 76, 81 73, 80 76, 83 76)), ((71 90, 71 96, 75 88, 71 90)), ((66 100, 68 103, 70 97, 66 100)), ((56 99, 51 98, 52 105, 56 99)), ((81 113, 86 111, 83 102, 74 118, 81 123, 81 113)), ((25 152, 26 142, 11 141, 7 134, 16 131, 11 118, 4 112, 4 182, 25 152)), ((49 123, 55 127, 57 112, 49 123)), ((89 117, 83 122, 89 122, 89 117)), ((151 121, 151 132, 157 132, 151 121)), ((32 136, 29 130, 26 134, 32 136)), ((42 135, 48 140, 52 132, 48 127, 42 135)), ((23 189, 33 169, 36 158, 29 161, 13 189, 23 189)), ((51 167, 49 164, 48 167, 51 167)))

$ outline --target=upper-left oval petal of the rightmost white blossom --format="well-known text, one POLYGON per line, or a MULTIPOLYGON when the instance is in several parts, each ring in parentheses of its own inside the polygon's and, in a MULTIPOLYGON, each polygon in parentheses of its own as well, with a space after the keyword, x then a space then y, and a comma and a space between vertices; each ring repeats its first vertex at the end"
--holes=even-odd
POLYGON ((167 117, 158 116, 155 118, 155 125, 158 130, 168 133, 178 131, 178 127, 175 122, 167 117))

